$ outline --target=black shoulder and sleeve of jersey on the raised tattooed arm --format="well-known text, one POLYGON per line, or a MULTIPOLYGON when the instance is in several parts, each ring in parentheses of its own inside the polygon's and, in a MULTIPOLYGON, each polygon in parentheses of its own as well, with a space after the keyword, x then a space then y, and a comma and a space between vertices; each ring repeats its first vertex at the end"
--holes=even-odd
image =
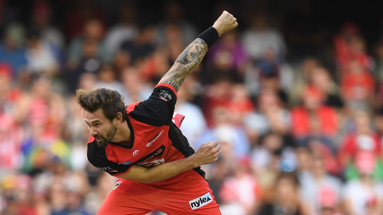
POLYGON ((148 99, 138 103, 130 112, 130 116, 139 122, 155 127, 170 125, 176 101, 177 96, 170 88, 157 86, 148 99))

